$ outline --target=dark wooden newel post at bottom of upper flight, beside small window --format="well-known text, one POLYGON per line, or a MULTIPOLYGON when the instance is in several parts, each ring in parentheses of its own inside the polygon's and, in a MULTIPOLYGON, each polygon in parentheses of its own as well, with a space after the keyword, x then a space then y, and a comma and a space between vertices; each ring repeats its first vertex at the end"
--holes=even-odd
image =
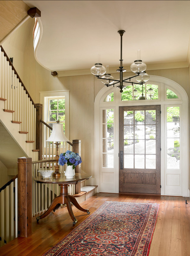
POLYGON ((43 119, 43 105, 40 103, 36 104, 36 149, 39 149, 38 160, 42 160, 42 136, 43 126, 40 120, 43 119))

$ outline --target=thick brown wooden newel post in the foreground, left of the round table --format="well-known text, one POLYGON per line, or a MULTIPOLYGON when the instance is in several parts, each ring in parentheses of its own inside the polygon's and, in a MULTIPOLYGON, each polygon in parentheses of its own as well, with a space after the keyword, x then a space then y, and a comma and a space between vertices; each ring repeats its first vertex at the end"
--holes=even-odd
POLYGON ((18 158, 18 236, 32 234, 32 158, 18 158))

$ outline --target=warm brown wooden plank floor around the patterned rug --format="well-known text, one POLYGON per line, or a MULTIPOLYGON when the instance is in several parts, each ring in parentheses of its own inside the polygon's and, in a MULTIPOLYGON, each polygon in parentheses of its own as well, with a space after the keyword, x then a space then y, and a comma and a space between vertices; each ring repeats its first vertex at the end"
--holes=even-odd
MULTIPOLYGON (((159 203, 160 209, 149 256, 190 256, 190 202, 188 197, 97 193, 80 205, 94 212, 104 201, 159 203), (189 204, 185 204, 185 199, 189 204)), ((72 206, 77 226, 88 218, 72 206)), ((28 238, 16 238, 0 248, 0 255, 43 255, 75 228, 66 207, 36 222, 28 238)))

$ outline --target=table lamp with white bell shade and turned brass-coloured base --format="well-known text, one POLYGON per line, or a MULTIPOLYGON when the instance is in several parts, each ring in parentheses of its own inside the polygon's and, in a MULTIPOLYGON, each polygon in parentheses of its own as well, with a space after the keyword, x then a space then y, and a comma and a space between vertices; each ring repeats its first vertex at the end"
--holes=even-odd
POLYGON ((55 177, 60 177, 61 173, 59 173, 59 145, 61 143, 59 143, 60 141, 69 141, 63 131, 63 124, 59 123, 59 120, 57 120, 57 124, 53 124, 53 129, 51 132, 51 135, 49 136, 49 138, 46 141, 52 141, 52 142, 56 142, 54 143, 56 145, 57 148, 57 153, 55 156, 56 159, 56 165, 55 165, 55 172, 53 173, 53 176, 55 177))

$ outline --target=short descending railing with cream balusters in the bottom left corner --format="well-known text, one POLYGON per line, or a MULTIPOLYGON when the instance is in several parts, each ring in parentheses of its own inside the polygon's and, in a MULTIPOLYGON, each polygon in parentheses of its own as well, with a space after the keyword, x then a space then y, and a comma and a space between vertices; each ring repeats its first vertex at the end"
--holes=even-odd
POLYGON ((18 236, 18 175, 8 181, 0 188, 0 244, 3 246, 7 242, 18 236))

